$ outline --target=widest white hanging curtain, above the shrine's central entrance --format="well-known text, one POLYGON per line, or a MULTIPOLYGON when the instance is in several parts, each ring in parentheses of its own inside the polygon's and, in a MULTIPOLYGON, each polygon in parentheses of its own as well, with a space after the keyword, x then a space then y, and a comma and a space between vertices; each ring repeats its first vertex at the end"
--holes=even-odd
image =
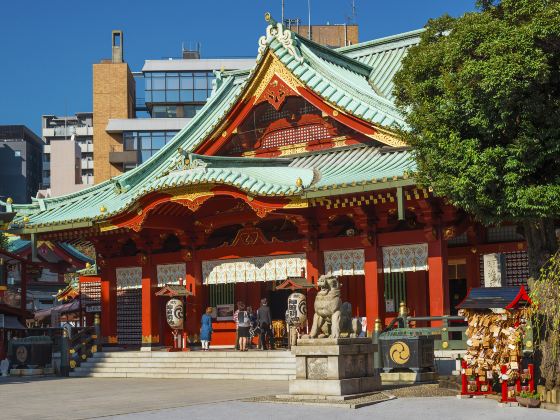
POLYGON ((202 261, 204 284, 286 280, 301 276, 305 254, 202 261))

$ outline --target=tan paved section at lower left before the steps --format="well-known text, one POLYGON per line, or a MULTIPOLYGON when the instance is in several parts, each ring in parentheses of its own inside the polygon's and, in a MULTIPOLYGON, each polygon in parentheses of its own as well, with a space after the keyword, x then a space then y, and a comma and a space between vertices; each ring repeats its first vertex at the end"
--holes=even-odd
POLYGON ((88 419, 193 404, 204 411, 213 402, 287 391, 284 381, 8 377, 0 378, 0 419, 88 419))

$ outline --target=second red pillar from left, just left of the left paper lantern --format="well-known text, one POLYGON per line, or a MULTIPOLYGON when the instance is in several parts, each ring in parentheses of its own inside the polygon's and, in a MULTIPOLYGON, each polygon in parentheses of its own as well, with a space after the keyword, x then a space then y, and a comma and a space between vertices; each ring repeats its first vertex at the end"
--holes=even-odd
POLYGON ((150 349, 159 344, 159 322, 157 317, 157 274, 151 257, 142 265, 142 348, 150 349))

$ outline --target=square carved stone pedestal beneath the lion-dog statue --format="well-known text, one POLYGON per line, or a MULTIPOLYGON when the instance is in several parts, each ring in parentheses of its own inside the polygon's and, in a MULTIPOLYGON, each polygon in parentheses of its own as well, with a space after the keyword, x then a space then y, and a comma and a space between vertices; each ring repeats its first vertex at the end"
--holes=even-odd
POLYGON ((349 395, 380 389, 371 338, 299 339, 292 347, 296 379, 291 395, 349 395))

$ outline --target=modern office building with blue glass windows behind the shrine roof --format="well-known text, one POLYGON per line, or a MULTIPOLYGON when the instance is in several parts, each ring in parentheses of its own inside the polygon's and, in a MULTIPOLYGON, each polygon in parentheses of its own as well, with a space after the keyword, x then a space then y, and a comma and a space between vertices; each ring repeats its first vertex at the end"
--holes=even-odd
POLYGON ((107 132, 122 138, 122 152, 114 147, 111 164, 126 172, 145 162, 204 106, 212 93, 214 71, 253 65, 253 59, 205 59, 198 53, 188 58, 146 60, 142 71, 132 73, 136 118, 108 120, 107 132))

